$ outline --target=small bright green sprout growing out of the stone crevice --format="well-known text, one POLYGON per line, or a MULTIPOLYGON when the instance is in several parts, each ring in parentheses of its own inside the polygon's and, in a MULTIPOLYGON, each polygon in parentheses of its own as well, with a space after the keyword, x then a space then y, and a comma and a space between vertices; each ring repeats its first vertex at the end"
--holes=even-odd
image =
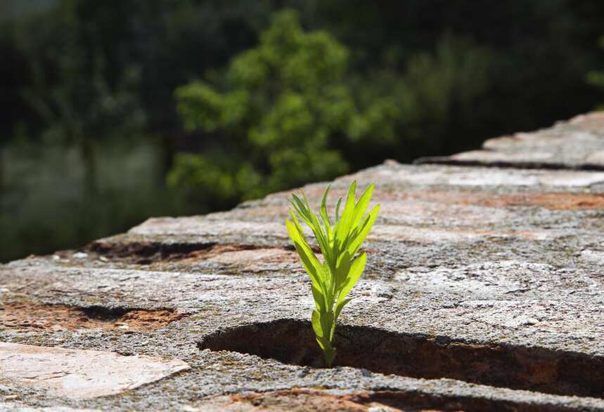
POLYGON ((335 220, 332 223, 326 206, 328 192, 329 187, 323 193, 319 215, 311 210, 304 194, 302 194, 304 200, 295 194, 292 194, 290 200, 297 214, 312 230, 316 243, 321 249, 322 259, 314 254, 294 211, 290 210, 291 220, 285 220, 285 225, 311 280, 316 307, 312 311, 312 328, 316 341, 323 350, 326 364, 331 366, 335 357, 335 347, 332 345, 335 324, 342 308, 351 300, 346 296, 365 269, 366 254, 361 252, 357 255, 357 252, 378 216, 380 205, 365 214, 373 193, 373 183, 367 187, 359 201, 356 201, 355 180, 350 185, 341 215, 342 198, 338 199, 335 206, 335 220))

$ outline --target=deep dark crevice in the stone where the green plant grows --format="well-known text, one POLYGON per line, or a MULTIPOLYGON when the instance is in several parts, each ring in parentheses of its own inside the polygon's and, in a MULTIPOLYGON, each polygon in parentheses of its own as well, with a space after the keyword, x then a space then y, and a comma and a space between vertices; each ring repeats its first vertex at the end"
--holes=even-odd
MULTIPOLYGON (((604 358, 543 347, 480 345, 367 326, 336 329, 335 366, 411 378, 469 383, 581 397, 604 397, 604 358)), ((200 350, 227 350, 322 367, 311 325, 297 319, 237 326, 207 335, 200 350)))

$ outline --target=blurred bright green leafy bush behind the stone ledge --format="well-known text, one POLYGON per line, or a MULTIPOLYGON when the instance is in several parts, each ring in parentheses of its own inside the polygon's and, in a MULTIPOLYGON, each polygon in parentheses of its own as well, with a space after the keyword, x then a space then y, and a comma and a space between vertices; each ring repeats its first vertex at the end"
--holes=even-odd
POLYGON ((397 105, 373 98, 361 106, 345 83, 348 59, 328 32, 304 32, 295 11, 277 13, 258 46, 234 56, 223 76, 176 89, 186 129, 225 140, 179 154, 170 185, 193 199, 256 198, 345 173, 335 135, 350 145, 369 136, 393 140, 397 105))

